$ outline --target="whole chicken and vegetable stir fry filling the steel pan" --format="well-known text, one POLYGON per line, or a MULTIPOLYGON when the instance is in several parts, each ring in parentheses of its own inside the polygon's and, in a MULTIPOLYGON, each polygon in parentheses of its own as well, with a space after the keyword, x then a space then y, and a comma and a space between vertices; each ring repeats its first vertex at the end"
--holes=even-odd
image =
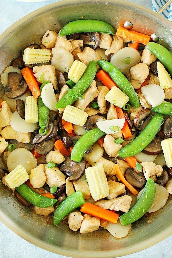
POLYGON ((1 74, 0 179, 54 226, 127 236, 172 194, 172 54, 131 28, 47 30, 1 74))

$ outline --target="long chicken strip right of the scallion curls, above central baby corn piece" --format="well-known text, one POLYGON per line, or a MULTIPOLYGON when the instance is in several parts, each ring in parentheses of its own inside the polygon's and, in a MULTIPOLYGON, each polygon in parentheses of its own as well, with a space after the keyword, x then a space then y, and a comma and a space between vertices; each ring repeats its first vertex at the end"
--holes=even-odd
POLYGON ((99 95, 99 91, 96 86, 95 80, 89 85, 87 90, 83 94, 83 99, 77 99, 75 101, 75 107, 85 110, 85 108, 99 95))

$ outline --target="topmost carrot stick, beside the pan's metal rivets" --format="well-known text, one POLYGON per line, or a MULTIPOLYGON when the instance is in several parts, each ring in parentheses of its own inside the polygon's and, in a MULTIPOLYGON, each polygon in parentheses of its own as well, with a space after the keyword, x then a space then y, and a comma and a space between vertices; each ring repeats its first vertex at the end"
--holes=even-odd
POLYGON ((134 30, 127 30, 123 27, 118 27, 117 31, 116 31, 116 35, 125 38, 125 39, 129 39, 138 43, 142 43, 144 45, 146 45, 149 40, 150 40, 150 36, 136 32, 134 30))

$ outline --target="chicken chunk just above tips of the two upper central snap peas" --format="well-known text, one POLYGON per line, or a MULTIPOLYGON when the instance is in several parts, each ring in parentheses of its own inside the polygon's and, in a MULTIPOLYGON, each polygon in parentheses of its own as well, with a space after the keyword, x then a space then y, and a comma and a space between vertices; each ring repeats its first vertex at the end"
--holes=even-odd
MULTIPOLYGON (((89 65, 89 62, 92 60, 97 62, 98 60, 102 59, 101 56, 99 55, 99 53, 97 53, 94 49, 89 48, 89 47, 85 47, 83 52, 77 53, 77 56, 79 57, 81 62, 83 62, 87 66, 89 65)), ((97 64, 97 69, 99 69, 98 64, 97 64)))

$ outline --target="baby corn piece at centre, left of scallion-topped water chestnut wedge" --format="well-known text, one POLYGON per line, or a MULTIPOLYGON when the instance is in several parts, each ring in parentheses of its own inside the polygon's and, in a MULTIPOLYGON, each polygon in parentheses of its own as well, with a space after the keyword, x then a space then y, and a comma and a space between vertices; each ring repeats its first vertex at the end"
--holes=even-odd
POLYGON ((67 107, 65 107, 62 119, 72 124, 83 126, 87 120, 87 117, 88 114, 85 111, 77 107, 68 105, 67 107))

